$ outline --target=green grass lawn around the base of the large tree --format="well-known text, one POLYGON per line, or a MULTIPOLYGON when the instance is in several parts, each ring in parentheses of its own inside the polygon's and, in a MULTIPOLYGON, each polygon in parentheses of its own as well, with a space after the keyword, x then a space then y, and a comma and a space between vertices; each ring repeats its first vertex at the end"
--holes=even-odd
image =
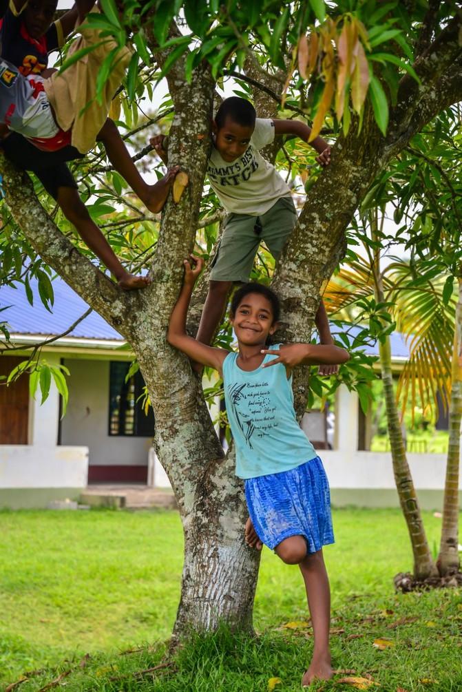
MULTIPOLYGON (((461 591, 394 594, 394 574, 412 566, 398 510, 333 516, 337 543, 325 555, 335 667, 365 677, 372 691, 460 692, 461 591), (378 650, 380 638, 391 645, 378 650)), ((441 519, 425 513, 425 525, 434 548, 441 519)), ((47 668, 16 688, 38 691, 90 653, 84 668, 63 678, 68 691, 266 691, 272 677, 281 679, 276 692, 299 689, 311 629, 284 624, 307 619, 302 579, 267 549, 255 603, 258 639, 221 632, 192 642, 171 666, 142 672, 165 653, 182 557, 173 511, 0 512, 0 686, 47 668)))

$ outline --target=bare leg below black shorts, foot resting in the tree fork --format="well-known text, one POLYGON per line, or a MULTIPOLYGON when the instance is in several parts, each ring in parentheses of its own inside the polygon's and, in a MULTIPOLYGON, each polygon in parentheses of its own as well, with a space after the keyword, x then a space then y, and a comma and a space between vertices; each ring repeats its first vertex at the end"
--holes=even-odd
POLYGON ((134 276, 123 268, 107 239, 102 235, 100 228, 91 219, 77 190, 64 186, 59 187, 57 189, 56 201, 62 208, 66 219, 71 221, 71 224, 77 228, 80 237, 82 237, 86 245, 113 273, 122 289, 143 289, 150 283, 148 277, 134 276))

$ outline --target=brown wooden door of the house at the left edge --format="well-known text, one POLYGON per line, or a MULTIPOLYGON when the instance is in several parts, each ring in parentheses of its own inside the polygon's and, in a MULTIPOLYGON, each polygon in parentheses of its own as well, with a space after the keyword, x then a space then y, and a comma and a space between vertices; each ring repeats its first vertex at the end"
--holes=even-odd
MULTIPOLYGON (((24 361, 15 356, 0 356, 0 376, 8 376, 13 367, 24 361)), ((28 444, 29 378, 6 386, 0 379, 0 444, 28 444)))

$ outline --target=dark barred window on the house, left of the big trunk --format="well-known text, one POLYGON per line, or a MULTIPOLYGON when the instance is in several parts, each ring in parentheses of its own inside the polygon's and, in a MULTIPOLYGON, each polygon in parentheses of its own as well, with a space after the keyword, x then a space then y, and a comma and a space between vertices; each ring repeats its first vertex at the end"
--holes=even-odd
POLYGON ((109 435, 154 437, 154 412, 142 406, 145 381, 138 370, 127 381, 130 363, 109 363, 109 435))

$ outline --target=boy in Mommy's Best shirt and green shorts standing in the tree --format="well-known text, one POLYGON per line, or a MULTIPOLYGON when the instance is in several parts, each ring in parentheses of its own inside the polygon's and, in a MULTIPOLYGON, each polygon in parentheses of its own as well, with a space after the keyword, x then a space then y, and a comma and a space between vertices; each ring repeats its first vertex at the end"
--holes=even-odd
MULTIPOLYGON (((212 264, 209 291, 197 333, 198 341, 206 344, 212 341, 223 317, 232 284, 249 280, 261 240, 277 259, 297 221, 288 185, 275 167, 261 156, 259 149, 280 134, 293 134, 307 141, 311 128, 299 120, 257 118, 250 101, 231 96, 216 112, 212 131, 214 139, 207 176, 228 216, 212 264)), ((151 144, 167 163, 163 136, 152 138, 151 144)), ((311 144, 320 154, 316 161, 329 165, 331 149, 326 141, 316 137, 311 144)), ((315 322, 321 343, 333 343, 322 302, 315 322)), ((325 366, 320 372, 331 374, 336 370, 335 366, 325 366)))

